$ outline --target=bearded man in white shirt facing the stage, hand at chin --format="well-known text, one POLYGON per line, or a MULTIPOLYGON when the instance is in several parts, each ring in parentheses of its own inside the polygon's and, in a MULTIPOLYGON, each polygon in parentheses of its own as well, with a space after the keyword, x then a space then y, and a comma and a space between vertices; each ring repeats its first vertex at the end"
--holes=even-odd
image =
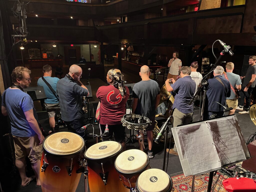
POLYGON ((173 78, 175 81, 179 76, 179 70, 182 66, 182 62, 178 59, 179 53, 173 52, 173 58, 169 60, 168 67, 170 68, 167 79, 173 78))

